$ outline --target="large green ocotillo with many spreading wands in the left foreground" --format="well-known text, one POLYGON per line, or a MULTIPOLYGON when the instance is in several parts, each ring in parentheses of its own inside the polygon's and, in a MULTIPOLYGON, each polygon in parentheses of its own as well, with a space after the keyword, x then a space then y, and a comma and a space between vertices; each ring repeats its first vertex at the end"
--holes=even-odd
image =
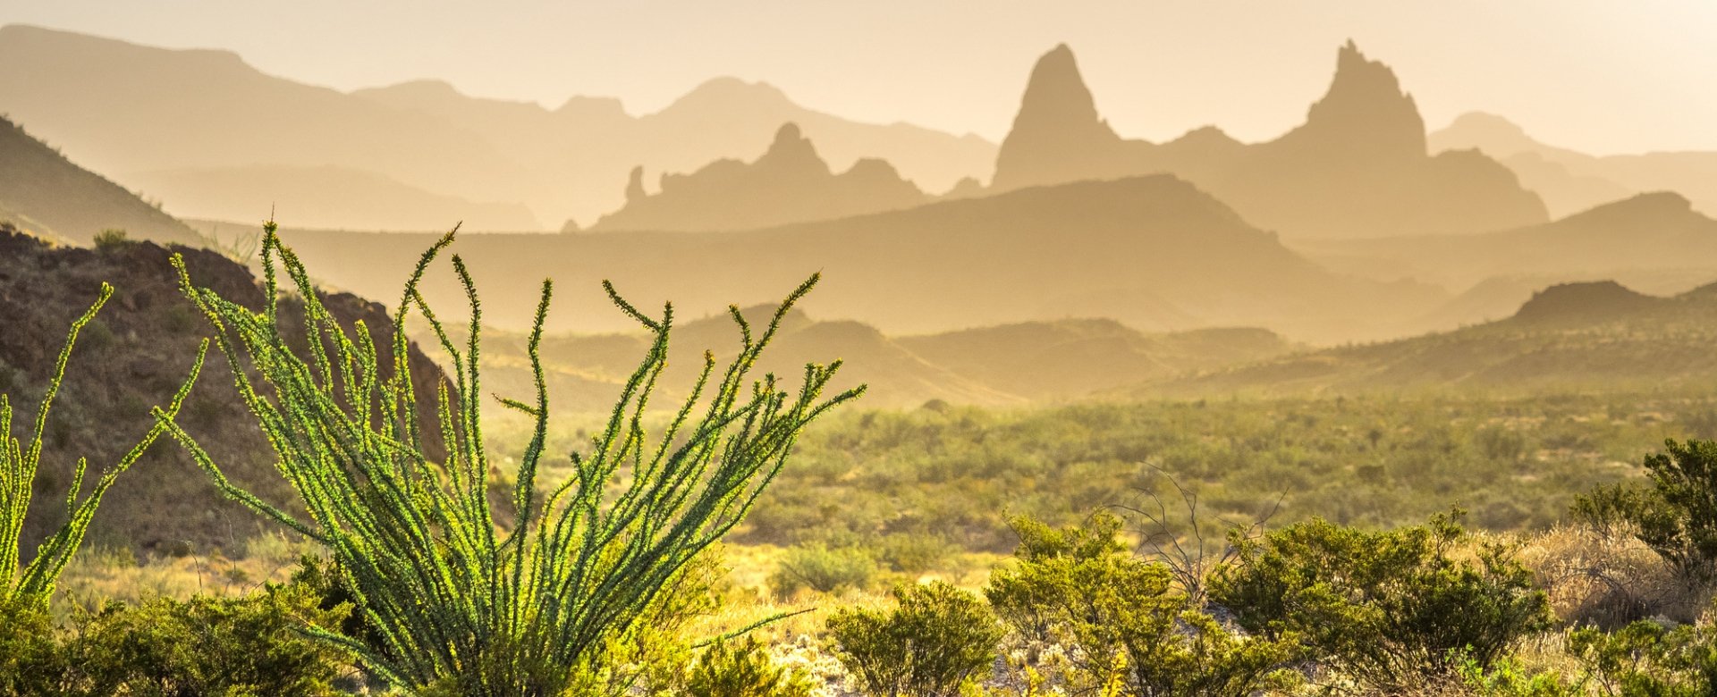
MULTIPOLYGON (((752 379, 759 354, 788 307, 816 283, 800 285, 767 328, 754 335, 738 309, 738 355, 718 373, 704 367, 690 397, 646 433, 644 419, 668 361, 673 307, 649 318, 604 283, 615 306, 654 335, 587 453, 572 455, 573 474, 537 489, 549 400, 539 345, 553 287, 531 330, 536 376, 531 402, 501 400, 531 415, 534 431, 512 489, 517 520, 496 522, 488 496, 489 455, 479 419, 481 306, 465 263, 452 258, 470 304, 469 342, 448 338, 419 282, 453 242, 450 232, 422 254, 393 318, 391 367, 381 366, 369 330, 352 333, 323 307, 297 256, 273 225, 263 235, 264 307, 252 312, 196 288, 180 264, 185 294, 216 330, 234 379, 261 422, 278 469, 307 512, 300 520, 232 484, 209 455, 160 419, 230 496, 328 548, 357 611, 374 630, 359 642, 330 628, 309 633, 357 652, 376 673, 409 692, 434 688, 470 697, 536 697, 570 690, 575 676, 601 664, 623 642, 663 589, 702 549, 730 530, 780 472, 798 433, 858 390, 822 398, 840 362, 807 366, 797 395, 774 376, 752 379), (278 270, 276 270, 278 266, 278 270), (302 297, 304 357, 282 336, 276 275, 302 297), (417 311, 452 357, 452 385, 440 385, 436 409, 445 462, 431 462, 421 433, 405 319, 417 311), (386 369, 385 369, 386 367, 386 369), (264 397, 254 369, 270 391, 264 397), (610 484, 620 484, 618 491, 610 484)), ((587 675, 587 673, 585 673, 587 675)), ((610 692, 623 690, 623 685, 610 692)))

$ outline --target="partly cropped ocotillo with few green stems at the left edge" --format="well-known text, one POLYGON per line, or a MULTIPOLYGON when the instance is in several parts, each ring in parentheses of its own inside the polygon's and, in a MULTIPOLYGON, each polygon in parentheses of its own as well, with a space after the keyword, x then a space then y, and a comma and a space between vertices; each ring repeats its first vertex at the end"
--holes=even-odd
MULTIPOLYGON (((84 472, 89 462, 79 458, 77 469, 72 474, 70 491, 65 494, 65 522, 36 546, 36 556, 29 560, 29 565, 24 565, 22 572, 19 570, 24 515, 29 513, 36 470, 41 467, 41 436, 48 427, 48 412, 53 409, 53 398, 58 397, 60 383, 65 379, 65 366, 72 359, 72 347, 77 345, 77 333, 96 318, 96 312, 101 311, 101 306, 110 297, 113 297, 113 287, 101 283, 101 294, 96 297, 96 302, 67 331, 65 347, 60 348, 60 357, 53 364, 53 376, 48 379, 48 391, 41 397, 41 407, 36 409, 36 426, 31 431, 27 445, 12 436, 12 400, 7 395, 0 395, 0 606, 22 603, 31 609, 46 608, 60 572, 65 570, 65 563, 72 560, 72 555, 84 542, 84 532, 89 529, 89 522, 101 505, 101 496, 167 431, 167 426, 156 422, 117 465, 101 474, 101 479, 96 481, 96 486, 82 500, 79 496, 82 494, 84 472)), ((203 347, 197 350, 197 362, 191 367, 191 376, 180 385, 179 393, 173 395, 173 402, 167 410, 160 410, 160 414, 179 414, 185 395, 191 393, 191 386, 197 381, 197 371, 203 367, 206 350, 208 342, 203 342, 203 347)))

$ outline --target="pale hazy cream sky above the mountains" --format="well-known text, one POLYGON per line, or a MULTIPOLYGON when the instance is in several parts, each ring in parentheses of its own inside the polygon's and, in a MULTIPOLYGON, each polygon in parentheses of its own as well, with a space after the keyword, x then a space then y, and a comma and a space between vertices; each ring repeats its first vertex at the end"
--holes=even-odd
POLYGON ((1432 129, 1487 110, 1600 155, 1717 149, 1714 0, 0 0, 5 22, 228 48, 340 89, 436 77, 548 106, 618 96, 632 113, 737 76, 991 139, 1061 41, 1123 136, 1216 124, 1253 141, 1305 117, 1353 38, 1432 129))

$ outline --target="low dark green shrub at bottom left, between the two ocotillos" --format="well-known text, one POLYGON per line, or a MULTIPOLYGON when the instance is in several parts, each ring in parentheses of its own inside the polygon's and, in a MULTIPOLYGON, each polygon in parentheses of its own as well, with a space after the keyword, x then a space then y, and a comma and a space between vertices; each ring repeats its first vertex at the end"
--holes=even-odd
POLYGON ((318 608, 302 585, 242 597, 153 597, 108 603, 74 620, 62 649, 69 694, 82 695, 335 695, 350 656, 300 632, 338 625, 349 606, 318 608))

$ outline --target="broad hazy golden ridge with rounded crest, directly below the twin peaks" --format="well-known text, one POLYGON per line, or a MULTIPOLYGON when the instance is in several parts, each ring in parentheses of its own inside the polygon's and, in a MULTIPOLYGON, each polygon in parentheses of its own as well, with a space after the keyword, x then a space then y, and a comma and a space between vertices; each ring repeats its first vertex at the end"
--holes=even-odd
MULTIPOLYGON (((285 240, 325 280, 390 292, 429 235, 294 232, 285 240)), ((551 328, 603 331, 625 318, 598 292, 613 278, 637 300, 766 302, 812 271, 807 311, 901 333, 1058 318, 1113 318, 1157 331, 1265 326, 1295 340, 1399 335, 1394 318, 1442 294, 1329 273, 1174 177, 1077 182, 905 211, 719 233, 472 235, 462 254, 486 292, 488 321, 529 323, 536 280, 561 287, 551 328)), ((452 278, 431 297, 453 306, 452 278)))

